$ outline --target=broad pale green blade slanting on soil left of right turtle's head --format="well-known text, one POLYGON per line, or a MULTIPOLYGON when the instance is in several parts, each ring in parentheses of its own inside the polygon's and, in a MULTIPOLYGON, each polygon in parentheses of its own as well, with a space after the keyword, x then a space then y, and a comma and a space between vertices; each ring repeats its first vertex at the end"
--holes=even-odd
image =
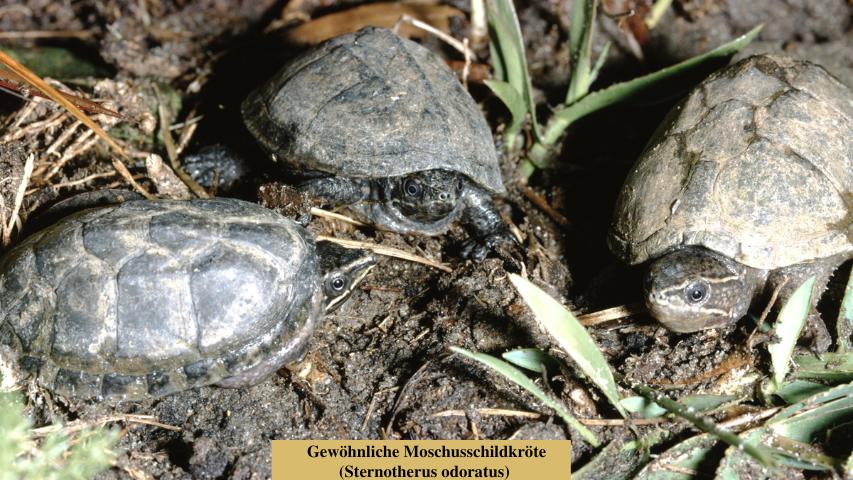
POLYGON ((527 306, 533 311, 533 316, 539 324, 551 334, 560 348, 569 354, 581 371, 604 393, 616 410, 623 417, 627 417, 628 412, 619 403, 619 391, 610 365, 607 364, 607 360, 586 328, 572 312, 536 285, 514 273, 511 273, 509 278, 527 306))

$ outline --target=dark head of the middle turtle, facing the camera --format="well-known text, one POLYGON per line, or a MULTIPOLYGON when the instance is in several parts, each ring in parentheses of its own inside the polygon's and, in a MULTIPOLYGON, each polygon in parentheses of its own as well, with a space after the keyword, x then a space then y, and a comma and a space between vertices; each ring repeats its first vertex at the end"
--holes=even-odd
POLYGON ((391 199, 406 217, 420 222, 441 220, 456 208, 463 179, 446 170, 425 170, 392 180, 391 199))

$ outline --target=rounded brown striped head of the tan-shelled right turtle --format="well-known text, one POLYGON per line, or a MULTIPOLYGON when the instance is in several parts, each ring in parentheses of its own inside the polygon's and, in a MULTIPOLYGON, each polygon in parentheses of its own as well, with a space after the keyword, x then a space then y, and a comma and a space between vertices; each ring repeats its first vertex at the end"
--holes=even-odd
POLYGON ((695 332, 736 322, 755 292, 746 266, 702 247, 671 251, 649 265, 646 306, 676 332, 695 332))

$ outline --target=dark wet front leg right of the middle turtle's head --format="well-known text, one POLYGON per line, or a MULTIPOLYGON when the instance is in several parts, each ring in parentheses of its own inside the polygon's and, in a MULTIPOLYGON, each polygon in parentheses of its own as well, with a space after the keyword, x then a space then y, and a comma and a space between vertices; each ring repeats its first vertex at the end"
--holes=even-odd
POLYGON ((521 246, 495 208, 491 195, 473 185, 465 185, 462 196, 462 223, 471 238, 462 245, 462 256, 482 261, 490 251, 504 258, 521 258, 521 246))

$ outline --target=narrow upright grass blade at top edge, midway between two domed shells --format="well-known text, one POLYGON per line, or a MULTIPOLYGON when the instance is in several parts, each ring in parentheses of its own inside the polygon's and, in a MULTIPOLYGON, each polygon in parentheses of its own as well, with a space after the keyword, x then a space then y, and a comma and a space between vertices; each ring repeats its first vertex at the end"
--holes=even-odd
POLYGON ((572 8, 572 25, 569 31, 569 51, 572 60, 572 79, 566 92, 566 105, 575 103, 589 93, 592 84, 590 46, 595 30, 597 0, 575 0, 572 8))

